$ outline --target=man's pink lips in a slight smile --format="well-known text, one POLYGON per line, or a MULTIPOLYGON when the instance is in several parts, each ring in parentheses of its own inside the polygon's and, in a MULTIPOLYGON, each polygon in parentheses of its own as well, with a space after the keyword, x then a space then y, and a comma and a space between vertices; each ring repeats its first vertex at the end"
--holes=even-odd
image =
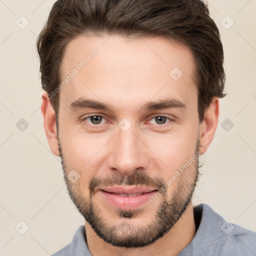
POLYGON ((149 202, 149 197, 156 193, 157 189, 148 187, 102 187, 98 191, 104 199, 118 209, 137 209, 149 202), (121 194, 143 193, 135 196, 121 196, 121 194))

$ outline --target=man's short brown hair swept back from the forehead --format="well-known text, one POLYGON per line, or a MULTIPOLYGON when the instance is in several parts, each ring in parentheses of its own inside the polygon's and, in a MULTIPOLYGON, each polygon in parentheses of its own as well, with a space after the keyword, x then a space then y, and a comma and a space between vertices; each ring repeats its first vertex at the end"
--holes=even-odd
MULTIPOLYGON (((79 34, 125 37, 162 36, 181 41, 193 52, 198 114, 212 98, 223 97, 225 73, 218 28, 201 0, 57 0, 37 38, 42 88, 60 83, 65 45, 79 34)), ((58 93, 51 99, 58 112, 58 93)))

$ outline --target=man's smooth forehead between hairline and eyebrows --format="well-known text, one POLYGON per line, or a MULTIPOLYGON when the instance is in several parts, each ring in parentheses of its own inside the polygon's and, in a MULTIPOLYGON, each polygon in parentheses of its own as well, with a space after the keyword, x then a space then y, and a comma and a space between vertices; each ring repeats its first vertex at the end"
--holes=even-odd
POLYGON ((189 101, 197 91, 194 69, 191 50, 174 40, 77 36, 62 57, 60 103, 107 96, 119 103, 130 98, 133 104, 166 94, 189 101))

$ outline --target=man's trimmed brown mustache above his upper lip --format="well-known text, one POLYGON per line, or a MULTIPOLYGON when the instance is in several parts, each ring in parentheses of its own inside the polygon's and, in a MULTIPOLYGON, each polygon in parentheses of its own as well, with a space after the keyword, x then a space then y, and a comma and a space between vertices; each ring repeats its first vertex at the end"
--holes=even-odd
POLYGON ((93 195, 96 187, 113 185, 144 185, 156 187, 159 190, 164 186, 164 181, 160 177, 149 177, 144 172, 134 172, 130 176, 114 173, 107 177, 92 177, 89 182, 89 191, 93 195))

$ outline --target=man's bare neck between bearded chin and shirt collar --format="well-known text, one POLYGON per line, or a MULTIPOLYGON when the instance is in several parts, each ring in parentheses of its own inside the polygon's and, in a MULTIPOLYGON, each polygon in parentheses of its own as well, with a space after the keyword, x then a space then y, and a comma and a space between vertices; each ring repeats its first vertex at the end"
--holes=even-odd
POLYGON ((112 246, 99 238, 86 221, 85 230, 91 255, 100 256, 148 256, 148 254, 175 256, 192 241, 196 231, 191 202, 179 220, 163 237, 144 247, 124 248, 112 246))

